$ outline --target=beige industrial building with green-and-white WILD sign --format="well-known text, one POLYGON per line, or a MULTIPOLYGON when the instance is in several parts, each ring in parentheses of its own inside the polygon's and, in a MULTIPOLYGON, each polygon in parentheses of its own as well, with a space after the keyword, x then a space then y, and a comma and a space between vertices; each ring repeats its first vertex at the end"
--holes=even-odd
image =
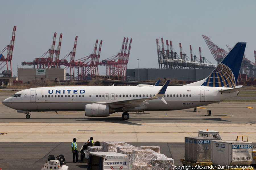
POLYGON ((18 80, 23 83, 32 80, 66 80, 66 69, 18 69, 18 80))

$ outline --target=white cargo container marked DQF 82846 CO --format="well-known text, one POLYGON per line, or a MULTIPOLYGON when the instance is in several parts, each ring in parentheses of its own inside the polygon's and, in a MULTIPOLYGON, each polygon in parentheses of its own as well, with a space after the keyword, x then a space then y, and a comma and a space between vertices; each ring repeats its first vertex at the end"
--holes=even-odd
POLYGON ((244 141, 211 141, 213 165, 249 166, 252 162, 252 143, 244 141))

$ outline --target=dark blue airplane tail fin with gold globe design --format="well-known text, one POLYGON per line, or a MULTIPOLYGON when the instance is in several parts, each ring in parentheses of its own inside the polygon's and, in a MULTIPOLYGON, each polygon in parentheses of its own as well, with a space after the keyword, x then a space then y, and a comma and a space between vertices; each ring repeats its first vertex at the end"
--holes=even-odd
POLYGON ((207 78, 199 82, 188 84, 188 86, 236 87, 245 46, 246 42, 236 43, 232 50, 207 78))

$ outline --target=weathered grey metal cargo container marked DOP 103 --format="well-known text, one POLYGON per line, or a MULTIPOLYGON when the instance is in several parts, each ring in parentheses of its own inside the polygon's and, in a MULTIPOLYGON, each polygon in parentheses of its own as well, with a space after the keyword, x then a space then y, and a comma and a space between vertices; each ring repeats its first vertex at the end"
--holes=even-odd
POLYGON ((213 137, 185 137, 185 160, 191 162, 211 162, 210 141, 213 137))

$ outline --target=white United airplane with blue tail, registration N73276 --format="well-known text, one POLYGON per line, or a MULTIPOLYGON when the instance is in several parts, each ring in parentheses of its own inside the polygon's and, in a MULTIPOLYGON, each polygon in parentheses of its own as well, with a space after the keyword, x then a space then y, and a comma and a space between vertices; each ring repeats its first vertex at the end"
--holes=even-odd
POLYGON ((205 79, 183 86, 55 86, 22 90, 5 99, 3 105, 25 113, 40 111, 84 111, 85 116, 106 117, 133 111, 173 111, 220 103, 248 87, 236 86, 245 42, 238 42, 205 79))

